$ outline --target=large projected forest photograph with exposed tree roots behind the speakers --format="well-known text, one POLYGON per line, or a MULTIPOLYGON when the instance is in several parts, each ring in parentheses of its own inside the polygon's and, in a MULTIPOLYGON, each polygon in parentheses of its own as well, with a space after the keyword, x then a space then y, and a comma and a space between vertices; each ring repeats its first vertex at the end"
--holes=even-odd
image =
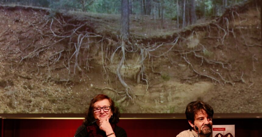
POLYGON ((262 113, 261 0, 0 0, 0 113, 262 113))

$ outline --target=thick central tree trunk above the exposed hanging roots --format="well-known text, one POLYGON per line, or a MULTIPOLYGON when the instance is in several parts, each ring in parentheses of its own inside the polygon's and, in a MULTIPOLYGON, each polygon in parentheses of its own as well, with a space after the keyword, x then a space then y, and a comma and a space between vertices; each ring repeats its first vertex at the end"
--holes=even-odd
POLYGON ((124 41, 128 40, 128 37, 129 37, 129 0, 122 0, 120 35, 124 41))

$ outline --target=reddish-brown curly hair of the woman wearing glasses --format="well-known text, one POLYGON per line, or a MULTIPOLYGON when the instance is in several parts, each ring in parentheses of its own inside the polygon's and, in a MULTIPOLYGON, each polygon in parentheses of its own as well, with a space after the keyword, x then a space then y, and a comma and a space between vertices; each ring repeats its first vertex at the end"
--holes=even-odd
POLYGON ((87 109, 87 111, 85 113, 86 115, 85 115, 85 119, 83 121, 84 125, 87 126, 89 123, 91 123, 95 120, 95 118, 94 118, 94 103, 97 102, 97 101, 104 100, 104 99, 108 99, 108 101, 110 102, 111 111, 113 113, 112 117, 109 119, 109 122, 111 124, 116 124, 116 123, 119 122, 120 113, 119 113, 118 107, 115 106, 114 101, 110 97, 108 97, 107 95, 99 94, 99 95, 95 96, 90 102, 89 108, 87 109))

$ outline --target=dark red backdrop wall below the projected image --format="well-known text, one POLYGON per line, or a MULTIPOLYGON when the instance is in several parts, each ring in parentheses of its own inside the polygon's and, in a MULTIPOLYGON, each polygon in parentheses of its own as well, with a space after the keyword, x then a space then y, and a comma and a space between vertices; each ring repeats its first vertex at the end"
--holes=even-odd
MULTIPOLYGON (((73 137, 81 119, 1 119, 2 137, 73 137)), ((262 119, 214 119, 235 125, 236 137, 260 137, 262 119)), ((188 128, 186 119, 120 119, 129 137, 174 137, 188 128)))

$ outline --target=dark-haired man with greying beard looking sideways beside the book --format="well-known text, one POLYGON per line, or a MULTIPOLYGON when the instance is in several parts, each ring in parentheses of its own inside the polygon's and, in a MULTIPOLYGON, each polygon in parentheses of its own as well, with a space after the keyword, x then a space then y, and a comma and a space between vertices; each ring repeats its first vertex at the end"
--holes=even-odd
POLYGON ((214 110, 205 102, 194 101, 186 106, 186 119, 189 130, 180 132, 176 137, 212 137, 212 118, 214 110))

